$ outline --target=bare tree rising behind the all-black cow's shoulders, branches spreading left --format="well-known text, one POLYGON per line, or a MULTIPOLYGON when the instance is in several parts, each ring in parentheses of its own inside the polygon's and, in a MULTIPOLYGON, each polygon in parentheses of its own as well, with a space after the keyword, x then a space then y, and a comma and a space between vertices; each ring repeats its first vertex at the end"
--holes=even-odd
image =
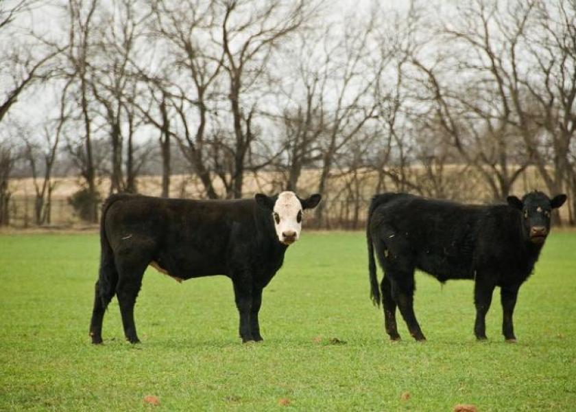
POLYGON ((424 43, 409 62, 422 76, 413 81, 416 100, 432 104, 424 126, 440 128, 437 133, 444 133, 461 159, 483 177, 492 197, 503 199, 530 158, 518 144, 520 130, 512 122, 513 102, 502 67, 503 58, 514 56, 506 51, 514 49, 518 35, 506 39, 492 33, 498 27, 491 22, 495 7, 484 0, 461 6, 459 26, 446 23, 439 34, 448 49, 434 58, 424 52, 420 57, 424 43))

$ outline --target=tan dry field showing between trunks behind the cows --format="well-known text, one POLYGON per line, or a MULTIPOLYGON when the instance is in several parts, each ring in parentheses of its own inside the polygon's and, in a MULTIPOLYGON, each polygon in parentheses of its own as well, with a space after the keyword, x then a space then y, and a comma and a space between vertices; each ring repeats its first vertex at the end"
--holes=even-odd
MULTIPOLYGON (((311 194, 317 190, 320 170, 303 170, 298 183, 298 190, 306 194, 311 194)), ((424 169, 422 166, 413 165, 408 169, 409 179, 422 181, 424 179, 424 169), (418 177, 420 176, 420 177, 418 177)), ((438 177, 438 176, 437 176, 438 177)), ((256 192, 277 193, 285 187, 286 176, 279 172, 258 172, 247 174, 244 179, 243 196, 252 197, 256 192)), ((358 216, 355 216, 355 197, 352 196, 350 188, 351 175, 346 175, 343 170, 334 170, 333 176, 328 179, 328 186, 324 192, 323 202, 326 205, 324 218, 327 219, 326 227, 340 227, 351 229, 352 222, 359 219, 359 226, 365 221, 365 213, 368 210, 370 198, 374 195, 377 187, 377 174, 370 170, 361 170, 359 174, 358 216), (328 224, 329 222, 329 224, 328 224)), ((425 179, 424 179, 425 180, 425 179)), ((444 181, 446 198, 464 203, 492 203, 492 194, 485 181, 478 172, 470 168, 463 170, 462 165, 446 165, 442 177, 444 181)), ((139 176, 136 179, 139 193, 151 196, 160 196, 162 192, 162 179, 160 176, 139 176)), ((177 198, 203 198, 204 190, 200 180, 190 174, 174 174, 170 181, 170 196, 177 198)), ((390 179, 385 179, 385 188, 381 191, 396 190, 395 183, 390 179)), ((75 176, 58 177, 54 179, 55 184, 51 201, 51 225, 57 227, 77 227, 85 225, 76 216, 73 207, 69 204, 68 198, 82 187, 81 181, 75 176)), ((214 180, 215 190, 220 196, 224 196, 224 187, 219 179, 214 180)), ((110 192, 110 179, 98 179, 97 184, 101 197, 104 199, 110 192)), ((424 185, 424 187, 427 187, 424 185)), ((525 192, 539 189, 547 192, 546 185, 542 181, 538 170, 529 167, 512 187, 512 194, 521 196, 525 192)), ((34 225, 34 181, 31 178, 12 179, 8 185, 8 190, 12 193, 10 198, 10 224, 12 227, 22 228, 34 225)), ((553 195, 553 194, 550 194, 553 195)), ((569 194, 572 196, 571 194, 569 194)), ((356 195, 355 195, 356 196, 356 195)), ((566 203, 560 214, 564 220, 568 219, 568 210, 571 204, 566 203)), ((359 227, 356 226, 356 227, 359 227)))

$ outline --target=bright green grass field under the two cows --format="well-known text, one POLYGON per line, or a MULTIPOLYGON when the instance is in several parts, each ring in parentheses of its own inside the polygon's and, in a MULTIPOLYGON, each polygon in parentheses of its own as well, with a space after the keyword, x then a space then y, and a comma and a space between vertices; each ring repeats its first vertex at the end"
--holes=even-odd
POLYGON ((263 343, 237 338, 225 277, 177 284, 149 270, 136 305, 143 343, 123 340, 114 300, 105 345, 93 346, 97 236, 0 236, 0 410, 150 409, 143 397, 154 395, 166 411, 574 411, 575 251, 576 233, 548 240, 520 289, 516 345, 501 336, 498 290, 489 341, 477 343, 472 282, 420 273, 429 340, 413 341, 399 319, 403 341, 390 343, 368 298, 363 234, 305 232, 265 289, 263 343))

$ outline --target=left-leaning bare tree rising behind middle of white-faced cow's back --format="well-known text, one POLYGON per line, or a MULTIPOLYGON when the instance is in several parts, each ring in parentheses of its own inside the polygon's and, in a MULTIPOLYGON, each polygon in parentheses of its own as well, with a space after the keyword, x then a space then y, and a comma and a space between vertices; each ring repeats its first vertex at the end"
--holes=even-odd
MULTIPOLYGON (((192 172, 200 178, 206 196, 217 198, 210 168, 206 164, 205 135, 210 111, 208 100, 213 99, 224 54, 207 41, 202 41, 217 30, 217 9, 212 3, 200 0, 158 0, 152 3, 152 12, 152 34, 161 38, 162 44, 169 48, 167 58, 173 71, 171 76, 163 77, 166 85, 163 93, 169 97, 182 126, 179 133, 164 135, 176 138, 192 172), (193 117, 190 108, 195 111, 193 117)), ((159 84, 156 82, 156 86, 159 84)))

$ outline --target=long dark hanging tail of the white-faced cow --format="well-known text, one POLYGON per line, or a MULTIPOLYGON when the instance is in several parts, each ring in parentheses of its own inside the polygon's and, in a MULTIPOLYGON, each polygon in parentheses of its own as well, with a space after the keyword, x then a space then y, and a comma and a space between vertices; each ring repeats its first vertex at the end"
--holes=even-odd
POLYGON ((112 203, 118 200, 120 196, 112 195, 104 205, 102 205, 102 216, 100 218, 100 271, 98 275, 98 290, 102 306, 106 308, 112 297, 115 295, 116 285, 118 283, 118 271, 114 262, 114 252, 106 236, 106 212, 112 203))

